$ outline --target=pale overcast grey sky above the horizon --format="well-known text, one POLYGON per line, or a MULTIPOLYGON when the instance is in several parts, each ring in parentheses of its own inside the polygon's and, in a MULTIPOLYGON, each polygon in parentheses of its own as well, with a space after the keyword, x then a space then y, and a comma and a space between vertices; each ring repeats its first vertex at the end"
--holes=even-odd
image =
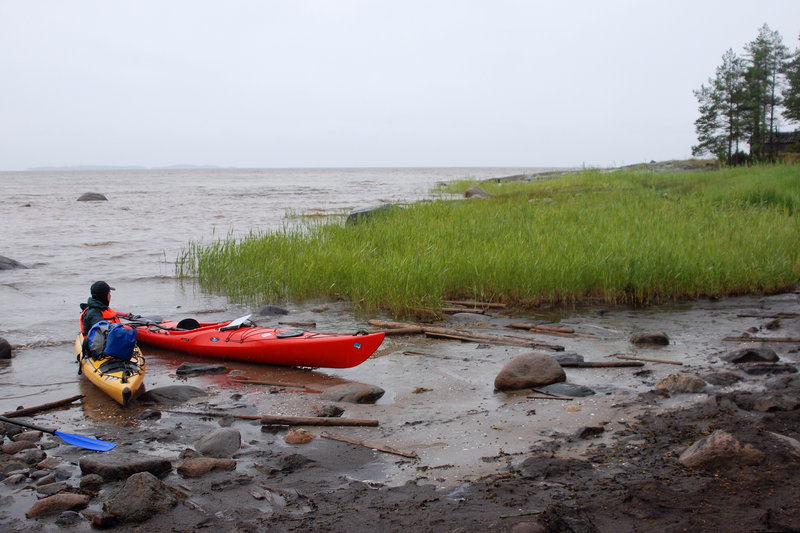
POLYGON ((0 170, 685 158, 764 23, 798 48, 798 0, 0 0, 0 170))

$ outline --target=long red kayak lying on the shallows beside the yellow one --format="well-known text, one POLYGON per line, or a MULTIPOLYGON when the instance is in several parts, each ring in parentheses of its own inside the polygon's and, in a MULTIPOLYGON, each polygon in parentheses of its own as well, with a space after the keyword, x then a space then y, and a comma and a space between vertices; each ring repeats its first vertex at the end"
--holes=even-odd
POLYGON ((254 325, 249 317, 227 322, 132 321, 141 344, 201 357, 281 366, 350 368, 375 353, 384 333, 312 333, 254 325))

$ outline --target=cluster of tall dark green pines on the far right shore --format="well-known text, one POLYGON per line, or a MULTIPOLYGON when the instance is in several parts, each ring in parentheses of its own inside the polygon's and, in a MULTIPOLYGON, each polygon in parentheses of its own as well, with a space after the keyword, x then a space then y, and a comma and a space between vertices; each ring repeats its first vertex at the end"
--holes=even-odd
POLYGON ((800 49, 790 51, 764 24, 743 55, 723 54, 716 75, 694 95, 700 112, 694 156, 713 154, 727 164, 773 158, 781 117, 800 122, 800 49))

